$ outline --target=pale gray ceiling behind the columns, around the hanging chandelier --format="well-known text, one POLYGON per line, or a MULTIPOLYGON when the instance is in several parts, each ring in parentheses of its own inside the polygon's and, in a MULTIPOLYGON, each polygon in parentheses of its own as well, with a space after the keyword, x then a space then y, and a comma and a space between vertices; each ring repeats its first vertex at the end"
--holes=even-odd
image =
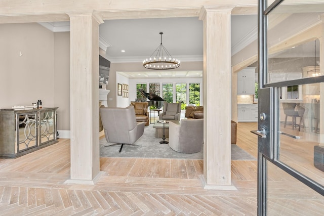
MULTIPOLYGON (((39 23, 54 32, 69 31, 69 22, 39 23)), ((142 62, 162 43, 181 62, 203 61, 203 21, 198 17, 105 20, 99 27, 100 45, 113 62, 142 62), (124 50, 125 52, 121 52, 124 50)), ((257 15, 231 17, 232 55, 257 39, 257 15)), ((180 69, 180 70, 179 70, 180 69)), ((136 77, 202 77, 202 71, 125 72, 136 77)))

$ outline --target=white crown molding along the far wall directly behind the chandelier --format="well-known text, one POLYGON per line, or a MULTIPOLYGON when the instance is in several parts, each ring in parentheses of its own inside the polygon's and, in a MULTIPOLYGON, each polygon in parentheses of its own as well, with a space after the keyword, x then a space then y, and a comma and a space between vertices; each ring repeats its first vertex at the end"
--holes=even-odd
MULTIPOLYGON (((202 62, 203 55, 196 55, 196 56, 173 56, 176 59, 179 59, 180 62, 202 62)), ((143 59, 146 59, 147 56, 125 56, 125 57, 111 57, 106 55, 106 58, 111 63, 143 63, 143 59)))

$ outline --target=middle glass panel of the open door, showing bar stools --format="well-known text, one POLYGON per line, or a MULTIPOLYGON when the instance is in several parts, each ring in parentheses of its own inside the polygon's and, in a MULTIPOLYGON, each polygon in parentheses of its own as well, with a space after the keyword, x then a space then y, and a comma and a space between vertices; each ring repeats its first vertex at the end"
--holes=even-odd
POLYGON ((324 185, 324 112, 320 97, 324 83, 298 85, 298 90, 302 93, 298 100, 278 99, 277 159, 324 185))

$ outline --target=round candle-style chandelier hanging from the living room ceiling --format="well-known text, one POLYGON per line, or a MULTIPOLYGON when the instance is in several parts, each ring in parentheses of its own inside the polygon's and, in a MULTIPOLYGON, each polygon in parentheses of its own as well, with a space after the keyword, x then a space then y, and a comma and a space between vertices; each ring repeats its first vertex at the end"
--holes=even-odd
POLYGON ((169 70, 180 66, 180 60, 174 59, 167 49, 162 45, 162 34, 161 44, 155 49, 152 55, 143 61, 143 66, 147 69, 152 70, 169 70))

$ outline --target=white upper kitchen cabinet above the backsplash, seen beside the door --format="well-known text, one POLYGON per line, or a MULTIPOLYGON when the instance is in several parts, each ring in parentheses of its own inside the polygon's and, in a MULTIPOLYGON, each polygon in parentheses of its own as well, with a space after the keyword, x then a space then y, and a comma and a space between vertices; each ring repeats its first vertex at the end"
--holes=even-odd
POLYGON ((237 95, 255 94, 255 67, 237 72, 237 95))

